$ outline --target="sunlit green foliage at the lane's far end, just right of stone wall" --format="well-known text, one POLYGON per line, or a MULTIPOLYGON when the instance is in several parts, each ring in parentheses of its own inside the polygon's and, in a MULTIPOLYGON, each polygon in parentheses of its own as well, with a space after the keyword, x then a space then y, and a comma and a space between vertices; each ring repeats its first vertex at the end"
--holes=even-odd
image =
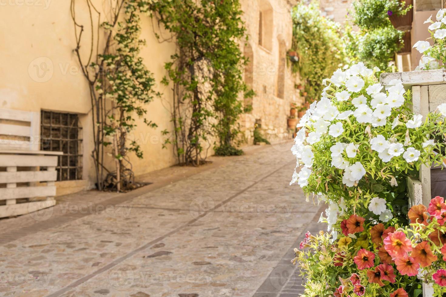
POLYGON ((301 57, 298 63, 293 63, 292 69, 306 80, 307 96, 315 100, 322 93, 322 79, 344 62, 341 31, 338 24, 321 16, 315 3, 299 2, 293 8, 292 17, 292 50, 301 57))

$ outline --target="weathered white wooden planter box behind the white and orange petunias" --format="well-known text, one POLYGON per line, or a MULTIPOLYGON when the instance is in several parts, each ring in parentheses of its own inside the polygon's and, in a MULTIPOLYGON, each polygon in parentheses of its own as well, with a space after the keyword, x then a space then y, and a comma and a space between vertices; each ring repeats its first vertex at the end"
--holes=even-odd
MULTIPOLYGON (((380 77, 382 85, 388 85, 392 79, 401 79, 405 88, 412 90, 413 112, 421 114, 423 119, 429 112, 436 110, 438 105, 446 102, 446 70, 383 73, 380 77)), ((432 199, 431 183, 431 168, 422 165, 419 179, 408 178, 409 206, 429 206, 432 199)), ((433 294, 432 286, 423 285, 423 297, 432 297, 433 294)))

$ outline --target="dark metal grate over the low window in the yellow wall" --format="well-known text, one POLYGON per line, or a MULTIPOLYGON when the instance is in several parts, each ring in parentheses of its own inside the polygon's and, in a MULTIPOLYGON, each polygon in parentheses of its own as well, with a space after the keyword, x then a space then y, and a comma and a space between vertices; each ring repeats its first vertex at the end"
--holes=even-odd
POLYGON ((82 179, 82 127, 77 114, 41 111, 41 150, 63 151, 57 180, 82 179))

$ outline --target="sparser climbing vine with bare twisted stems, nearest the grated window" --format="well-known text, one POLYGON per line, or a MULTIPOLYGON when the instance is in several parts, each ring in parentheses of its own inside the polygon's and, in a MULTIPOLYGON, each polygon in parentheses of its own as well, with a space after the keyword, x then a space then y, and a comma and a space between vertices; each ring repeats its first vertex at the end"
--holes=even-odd
MULTIPOLYGON (((102 20, 101 11, 91 0, 82 1, 89 12, 88 27, 78 23, 76 0, 71 0, 71 16, 76 36, 74 52, 90 87, 94 136, 91 156, 95 163, 97 188, 125 191, 136 186, 128 153, 143 157, 140 146, 130 135, 136 127, 135 116, 145 116, 145 105, 159 94, 153 90, 152 73, 139 57, 140 47, 145 41, 139 39, 138 13, 147 12, 147 2, 111 2, 109 12, 104 13, 107 19, 102 20), (89 28, 91 34, 89 42, 83 42, 86 28, 89 28), (83 44, 88 48, 87 54, 81 53, 83 44), (105 165, 104 160, 108 155, 114 160, 113 170, 105 165)), ((156 127, 155 123, 146 118, 144 122, 156 127)))

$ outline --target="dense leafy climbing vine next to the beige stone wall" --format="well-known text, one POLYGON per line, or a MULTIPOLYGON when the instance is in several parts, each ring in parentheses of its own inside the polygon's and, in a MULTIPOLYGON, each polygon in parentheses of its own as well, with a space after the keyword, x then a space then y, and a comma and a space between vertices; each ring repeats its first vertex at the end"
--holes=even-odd
POLYGON ((215 151, 239 155, 233 147, 240 132, 237 119, 249 106, 240 94, 253 95, 243 82, 246 59, 238 41, 246 40, 239 0, 164 0, 151 4, 153 17, 176 41, 177 51, 165 63, 165 85, 173 85, 173 145, 178 162, 205 162, 211 136, 215 151), (206 151, 206 153, 203 153, 206 151))

